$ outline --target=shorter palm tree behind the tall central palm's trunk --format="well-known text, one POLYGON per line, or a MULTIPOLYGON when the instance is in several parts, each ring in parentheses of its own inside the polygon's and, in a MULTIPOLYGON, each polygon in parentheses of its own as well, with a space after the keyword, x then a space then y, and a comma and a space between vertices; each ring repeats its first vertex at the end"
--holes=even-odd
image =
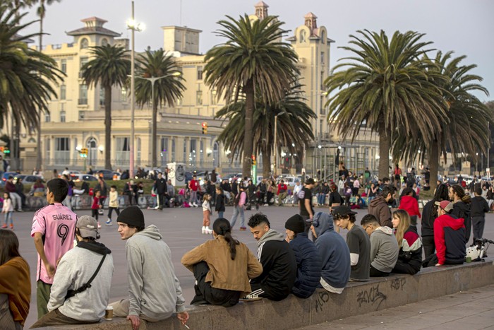
MULTIPOLYGON (((269 177, 271 154, 276 146, 286 146, 290 153, 300 153, 304 146, 314 139, 311 118, 315 113, 301 97, 300 86, 294 86, 289 94, 274 105, 266 105, 257 93, 253 114, 253 154, 263 154, 263 177, 269 177), (275 143, 275 116, 277 125, 277 143, 275 143), (295 147, 292 146, 295 144, 295 147)), ((233 154, 242 155, 245 132, 246 100, 233 102, 220 109, 215 118, 228 119, 227 126, 218 136, 218 141, 224 143, 225 148, 233 154)))

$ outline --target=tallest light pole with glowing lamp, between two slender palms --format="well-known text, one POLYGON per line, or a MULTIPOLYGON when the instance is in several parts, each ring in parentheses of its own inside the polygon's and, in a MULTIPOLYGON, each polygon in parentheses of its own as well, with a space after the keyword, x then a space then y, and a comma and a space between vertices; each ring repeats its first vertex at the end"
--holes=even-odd
POLYGON ((142 31, 143 25, 140 25, 134 20, 134 1, 132 1, 132 17, 127 21, 127 28, 131 30, 131 141, 130 147, 130 163, 129 163, 129 177, 134 177, 134 139, 135 139, 135 63, 134 63, 134 49, 135 49, 135 31, 142 31))

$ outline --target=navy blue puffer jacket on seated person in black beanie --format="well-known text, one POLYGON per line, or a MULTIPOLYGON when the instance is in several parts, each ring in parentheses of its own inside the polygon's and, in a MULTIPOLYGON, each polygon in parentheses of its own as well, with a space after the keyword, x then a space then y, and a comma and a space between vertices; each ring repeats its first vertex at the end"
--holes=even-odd
POLYGON ((296 281, 291 293, 301 298, 311 297, 321 277, 322 261, 318 249, 305 232, 299 232, 290 241, 290 247, 295 253, 297 266, 296 281))

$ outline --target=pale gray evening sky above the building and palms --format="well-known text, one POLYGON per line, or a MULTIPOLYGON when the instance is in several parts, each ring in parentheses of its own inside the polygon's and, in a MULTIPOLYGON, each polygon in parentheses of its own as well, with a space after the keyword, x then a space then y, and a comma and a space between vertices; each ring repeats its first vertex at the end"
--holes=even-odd
MULTIPOLYGON (((145 30, 135 35, 135 49, 142 51, 163 47, 162 26, 186 25, 202 30, 200 52, 205 53, 222 42, 215 35, 218 20, 226 15, 238 18, 253 14, 258 0, 135 0, 135 20, 145 23, 145 30)), ((394 31, 414 30, 425 33, 423 41, 432 41, 430 48, 442 52, 454 51, 466 55, 463 64, 476 64, 472 71, 483 77, 483 86, 490 96, 475 93, 482 101, 494 100, 494 1, 492 0, 265 0, 270 15, 285 22, 291 30, 303 24, 303 16, 312 12, 318 16, 318 25, 327 28, 327 36, 335 43, 331 49, 331 66, 349 56, 338 47, 348 45, 349 35, 356 30, 394 31)), ((36 20, 35 8, 28 11, 25 21, 36 20)), ((130 0, 61 0, 47 6, 43 37, 44 44, 71 42, 67 31, 83 26, 83 18, 97 16, 107 20, 105 28, 122 33, 130 39, 126 20, 131 17, 130 0)), ((31 25, 29 32, 39 30, 31 25)), ((287 35, 287 37, 289 36, 287 35)), ((431 52, 430 54, 435 54, 431 52)))

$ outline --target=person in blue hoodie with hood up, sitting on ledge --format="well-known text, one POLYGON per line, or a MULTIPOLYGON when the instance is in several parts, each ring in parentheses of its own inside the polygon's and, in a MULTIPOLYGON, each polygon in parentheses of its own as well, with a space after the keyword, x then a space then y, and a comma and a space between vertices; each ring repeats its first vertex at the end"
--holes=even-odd
POLYGON ((315 247, 323 261, 319 288, 340 294, 350 279, 350 250, 347 243, 335 232, 333 218, 328 213, 315 213, 311 230, 315 247))

